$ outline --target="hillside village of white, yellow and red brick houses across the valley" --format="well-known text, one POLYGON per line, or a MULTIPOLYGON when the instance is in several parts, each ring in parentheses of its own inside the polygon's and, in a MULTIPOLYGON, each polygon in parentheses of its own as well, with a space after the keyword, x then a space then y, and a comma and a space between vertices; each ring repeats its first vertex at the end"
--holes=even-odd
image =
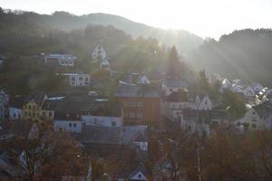
MULTIPOLYGON (((150 180, 151 170, 156 173, 153 170, 158 168, 159 162, 167 162, 162 157, 153 167, 147 167, 152 137, 158 135, 182 131, 205 139, 217 134, 218 129, 228 129, 238 135, 272 129, 272 90, 257 82, 229 81, 214 74, 206 78, 210 84, 218 85, 219 95, 214 99, 205 90, 191 89, 189 80, 180 74, 179 62, 170 62, 168 71, 156 76, 148 72, 126 72, 118 76, 121 72, 112 70, 105 49, 98 44, 92 50, 92 63, 98 64, 102 79, 106 76, 111 80, 103 84, 90 73, 69 72, 77 62, 73 54, 42 53, 40 57, 39 63, 43 66, 60 67, 55 75, 62 77, 72 89, 32 90, 25 96, 0 90, 0 142, 21 134, 34 138, 39 132, 37 124, 45 122, 51 125, 53 132, 69 133, 83 151, 92 157, 95 155, 95 159, 107 159, 104 155, 118 155, 124 150, 133 153, 131 167, 118 167, 114 174, 105 171, 109 180, 150 180), (235 118, 229 111, 231 105, 223 106, 224 91, 245 100, 243 116, 235 118)), ((26 153, 23 149, 18 151, 23 166, 20 169, 8 159, 5 150, 1 150, 0 179, 24 173, 26 153)), ((164 166, 163 169, 167 169, 167 164, 164 166)), ((91 180, 90 175, 92 168, 88 169, 87 180, 91 180)), ((159 174, 152 177, 162 180, 159 174)), ((71 174, 63 176, 63 180, 85 179, 71 174)))

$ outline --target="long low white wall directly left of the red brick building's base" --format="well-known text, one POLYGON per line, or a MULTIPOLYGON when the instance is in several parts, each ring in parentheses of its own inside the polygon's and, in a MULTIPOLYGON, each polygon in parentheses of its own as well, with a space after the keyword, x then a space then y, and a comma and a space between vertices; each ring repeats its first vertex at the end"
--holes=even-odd
POLYGON ((82 116, 83 123, 86 125, 97 125, 103 127, 121 127, 122 119, 120 117, 105 116, 82 116))

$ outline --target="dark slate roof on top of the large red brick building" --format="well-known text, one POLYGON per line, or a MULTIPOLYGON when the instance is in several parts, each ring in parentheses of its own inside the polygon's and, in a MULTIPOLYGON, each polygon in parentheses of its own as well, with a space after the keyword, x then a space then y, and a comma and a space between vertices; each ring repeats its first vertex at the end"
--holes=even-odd
POLYGON ((121 98, 160 98, 160 92, 151 85, 121 84, 117 96, 121 98))

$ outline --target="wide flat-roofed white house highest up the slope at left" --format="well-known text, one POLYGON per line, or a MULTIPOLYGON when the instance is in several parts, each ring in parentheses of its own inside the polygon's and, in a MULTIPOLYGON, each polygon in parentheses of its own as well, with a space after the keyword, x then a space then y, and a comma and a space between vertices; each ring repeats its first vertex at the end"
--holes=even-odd
POLYGON ((77 59, 72 54, 47 54, 44 55, 44 63, 61 66, 73 66, 77 59))

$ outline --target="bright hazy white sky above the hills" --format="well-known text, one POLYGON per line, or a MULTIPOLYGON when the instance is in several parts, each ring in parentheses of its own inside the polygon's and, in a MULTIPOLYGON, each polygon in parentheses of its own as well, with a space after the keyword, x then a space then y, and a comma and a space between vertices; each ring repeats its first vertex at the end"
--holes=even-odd
POLYGON ((272 26, 272 0, 0 0, 0 6, 40 14, 118 14, 214 38, 235 29, 272 26))

